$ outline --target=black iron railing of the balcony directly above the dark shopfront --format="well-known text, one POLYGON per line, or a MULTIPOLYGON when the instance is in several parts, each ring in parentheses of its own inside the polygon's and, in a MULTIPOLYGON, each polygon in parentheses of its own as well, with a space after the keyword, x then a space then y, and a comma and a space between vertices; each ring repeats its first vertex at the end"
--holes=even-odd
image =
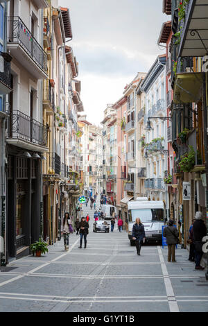
POLYGON ((10 114, 8 137, 46 146, 47 129, 42 123, 15 110, 10 114))

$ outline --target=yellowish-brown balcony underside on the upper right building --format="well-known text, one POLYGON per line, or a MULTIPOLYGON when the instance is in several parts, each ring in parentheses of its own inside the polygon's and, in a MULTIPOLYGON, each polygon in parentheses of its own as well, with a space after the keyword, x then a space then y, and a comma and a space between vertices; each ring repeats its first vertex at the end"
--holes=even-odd
POLYGON ((176 74, 173 102, 198 103, 202 96, 204 73, 176 74))

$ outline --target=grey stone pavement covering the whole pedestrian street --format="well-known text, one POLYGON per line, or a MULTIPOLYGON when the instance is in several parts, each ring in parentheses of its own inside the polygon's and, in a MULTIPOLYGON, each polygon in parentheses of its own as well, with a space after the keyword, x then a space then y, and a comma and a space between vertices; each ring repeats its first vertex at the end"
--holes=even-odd
POLYGON ((90 214, 87 248, 78 248, 74 233, 69 252, 61 240, 42 257, 1 268, 0 311, 208 311, 205 271, 194 269, 187 250, 176 250, 175 263, 160 246, 142 246, 138 256, 125 230, 94 233, 94 209, 83 211, 90 214))

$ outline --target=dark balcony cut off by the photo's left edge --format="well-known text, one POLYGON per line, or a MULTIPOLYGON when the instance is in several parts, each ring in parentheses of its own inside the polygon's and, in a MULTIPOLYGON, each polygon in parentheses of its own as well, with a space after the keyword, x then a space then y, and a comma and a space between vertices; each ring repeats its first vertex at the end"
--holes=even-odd
POLYGON ((8 94, 11 89, 11 55, 0 52, 0 94, 8 94))

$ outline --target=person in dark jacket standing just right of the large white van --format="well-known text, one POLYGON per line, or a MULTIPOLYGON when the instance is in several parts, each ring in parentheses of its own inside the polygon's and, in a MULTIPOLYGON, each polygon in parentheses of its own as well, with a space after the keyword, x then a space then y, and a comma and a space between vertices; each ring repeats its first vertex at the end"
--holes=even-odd
POLYGON ((177 237, 179 236, 179 232, 177 231, 177 228, 173 226, 174 221, 169 220, 168 226, 164 228, 163 236, 167 240, 168 244, 168 261, 176 261, 175 260, 175 245, 177 244, 177 237))

